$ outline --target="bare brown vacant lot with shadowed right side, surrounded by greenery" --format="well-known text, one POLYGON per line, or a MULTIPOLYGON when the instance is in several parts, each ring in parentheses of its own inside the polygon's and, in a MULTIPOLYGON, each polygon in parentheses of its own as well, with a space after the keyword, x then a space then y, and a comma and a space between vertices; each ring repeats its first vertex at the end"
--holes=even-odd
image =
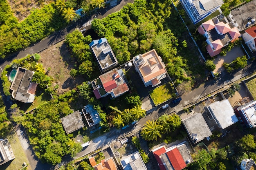
POLYGON ((70 70, 75 68, 76 62, 64 41, 50 46, 39 54, 40 63, 43 64, 45 72, 54 78, 53 86, 58 84, 57 94, 72 90, 85 81, 82 76, 76 76, 76 78, 70 76, 70 70))

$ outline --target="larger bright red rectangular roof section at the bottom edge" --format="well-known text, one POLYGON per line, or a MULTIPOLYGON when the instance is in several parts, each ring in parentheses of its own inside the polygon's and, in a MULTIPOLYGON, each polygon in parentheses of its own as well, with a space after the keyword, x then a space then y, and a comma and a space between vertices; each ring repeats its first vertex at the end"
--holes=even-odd
POLYGON ((186 167, 186 163, 182 158, 180 151, 177 148, 170 150, 166 154, 175 170, 182 170, 183 168, 186 167))

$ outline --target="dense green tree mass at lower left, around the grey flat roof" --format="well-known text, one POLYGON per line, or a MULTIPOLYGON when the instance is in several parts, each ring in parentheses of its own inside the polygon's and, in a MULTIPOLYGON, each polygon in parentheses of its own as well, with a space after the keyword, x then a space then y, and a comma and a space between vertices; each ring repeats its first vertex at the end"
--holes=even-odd
POLYGON ((26 128, 36 156, 44 162, 55 165, 61 162, 64 155, 74 157, 82 149, 80 144, 71 139, 72 135, 65 134, 60 121, 60 117, 73 112, 68 103, 72 102, 74 93, 67 92, 39 106, 33 113, 14 117, 26 128))

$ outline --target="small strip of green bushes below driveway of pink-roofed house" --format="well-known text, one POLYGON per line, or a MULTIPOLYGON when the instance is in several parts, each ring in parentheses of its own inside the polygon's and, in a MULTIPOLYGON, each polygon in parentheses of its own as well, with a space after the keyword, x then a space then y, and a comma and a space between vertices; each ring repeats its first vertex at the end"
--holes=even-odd
POLYGON ((231 73, 238 68, 245 68, 245 66, 247 66, 247 58, 245 55, 243 57, 237 57, 236 60, 231 63, 223 63, 223 66, 228 73, 231 73))

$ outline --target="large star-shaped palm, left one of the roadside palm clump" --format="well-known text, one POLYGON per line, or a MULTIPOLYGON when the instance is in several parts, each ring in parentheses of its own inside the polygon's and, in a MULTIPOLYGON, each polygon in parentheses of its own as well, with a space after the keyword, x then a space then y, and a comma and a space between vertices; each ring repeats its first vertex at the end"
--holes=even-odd
POLYGON ((144 125, 145 127, 141 130, 141 136, 145 140, 157 140, 157 137, 162 137, 161 129, 162 126, 157 124, 157 121, 147 121, 147 124, 144 125))

